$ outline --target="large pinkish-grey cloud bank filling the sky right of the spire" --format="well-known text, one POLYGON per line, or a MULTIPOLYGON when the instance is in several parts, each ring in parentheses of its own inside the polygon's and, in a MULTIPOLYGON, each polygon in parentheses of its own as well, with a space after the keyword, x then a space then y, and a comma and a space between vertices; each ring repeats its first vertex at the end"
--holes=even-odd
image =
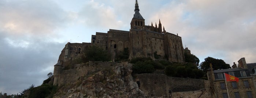
MULTIPOLYGON (((256 2, 190 0, 170 1, 162 7, 153 7, 149 20, 162 20, 162 26, 182 37, 200 61, 210 56, 228 64, 245 57, 253 63, 256 39, 256 2)), ((142 15, 143 16, 143 15, 142 15)), ((145 16, 144 16, 145 17, 145 16)), ((153 24, 155 24, 153 22, 153 24)))

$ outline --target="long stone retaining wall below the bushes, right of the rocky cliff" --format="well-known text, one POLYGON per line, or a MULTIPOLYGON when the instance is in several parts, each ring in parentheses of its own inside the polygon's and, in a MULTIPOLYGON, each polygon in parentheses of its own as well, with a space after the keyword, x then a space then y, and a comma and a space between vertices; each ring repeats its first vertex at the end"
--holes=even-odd
POLYGON ((204 96, 210 96, 209 83, 203 79, 167 77, 164 74, 145 73, 136 75, 136 82, 142 91, 148 91, 149 94, 158 97, 163 95, 169 97, 172 94, 182 94, 182 92, 184 94, 191 93, 187 91, 202 92, 201 90, 207 92, 204 96))

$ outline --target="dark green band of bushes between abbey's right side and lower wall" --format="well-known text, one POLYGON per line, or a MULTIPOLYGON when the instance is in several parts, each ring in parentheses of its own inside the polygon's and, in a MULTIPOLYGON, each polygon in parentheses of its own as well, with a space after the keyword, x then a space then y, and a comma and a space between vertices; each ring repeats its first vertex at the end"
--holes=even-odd
MULTIPOLYGON (((156 56, 157 53, 155 52, 156 56)), ((193 54, 186 55, 187 63, 170 63, 165 60, 153 61, 150 58, 133 58, 133 75, 140 73, 153 73, 156 69, 163 70, 167 76, 201 79, 205 76, 203 70, 198 68, 199 59, 193 54)), ((205 78, 204 78, 205 79, 205 78)))

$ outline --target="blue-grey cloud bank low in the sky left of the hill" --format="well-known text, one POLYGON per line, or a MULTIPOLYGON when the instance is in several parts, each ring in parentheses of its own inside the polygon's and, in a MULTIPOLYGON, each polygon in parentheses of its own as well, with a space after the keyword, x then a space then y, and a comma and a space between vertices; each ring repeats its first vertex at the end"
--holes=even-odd
POLYGON ((0 51, 0 91, 7 94, 21 92, 31 84, 41 85, 47 73, 53 72, 47 68, 53 68, 64 46, 64 43, 30 38, 31 46, 21 48, 10 45, 3 37, 0 39, 0 45, 4 46, 0 51))

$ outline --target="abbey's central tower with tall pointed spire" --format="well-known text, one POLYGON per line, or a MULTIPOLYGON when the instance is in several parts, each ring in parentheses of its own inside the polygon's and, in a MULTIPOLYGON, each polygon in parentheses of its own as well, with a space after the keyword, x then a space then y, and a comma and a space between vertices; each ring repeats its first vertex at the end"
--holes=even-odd
POLYGON ((140 9, 139 9, 139 4, 138 0, 136 0, 135 3, 135 9, 134 12, 135 14, 133 15, 133 19, 131 20, 131 29, 135 26, 136 28, 144 28, 145 26, 145 19, 141 16, 140 14, 140 9))

